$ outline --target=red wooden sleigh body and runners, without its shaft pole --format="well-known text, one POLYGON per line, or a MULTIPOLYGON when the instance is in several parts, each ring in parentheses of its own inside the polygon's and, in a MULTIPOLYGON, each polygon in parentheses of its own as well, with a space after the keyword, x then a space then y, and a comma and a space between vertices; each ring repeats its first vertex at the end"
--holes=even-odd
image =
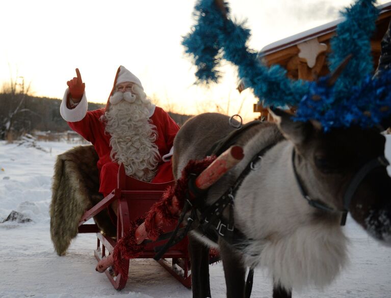
MULTIPOLYGON (((139 181, 135 178, 126 176, 123 165, 119 167, 117 188, 90 210, 87 210, 79 222, 79 233, 97 233, 97 248, 95 249, 94 254, 98 261, 113 253, 117 241, 124 237, 129 226, 131 226, 131 223, 140 217, 145 216, 149 208, 161 198, 165 189, 173 183, 174 181, 160 184, 139 181), (118 200, 116 239, 100 233, 96 224, 85 224, 85 222, 93 216, 97 215, 102 210, 105 210, 114 200, 118 200)), ((172 229, 174 229, 174 226, 172 229)), ((165 241, 146 244, 144 250, 137 258, 153 258, 155 255, 155 251, 153 250, 154 247, 161 246, 164 243, 165 241)), ((122 259, 121 262, 122 268, 127 272, 129 270, 129 260, 122 259)), ((158 262, 184 286, 191 288, 191 276, 189 272, 190 258, 187 237, 167 250, 163 255, 163 258, 158 262), (168 259, 172 259, 171 264, 168 259), (178 270, 174 270, 174 265, 180 267, 181 273, 178 273, 178 270)), ((121 274, 114 276, 109 270, 106 270, 105 274, 117 290, 125 287, 127 276, 121 276, 121 274)))

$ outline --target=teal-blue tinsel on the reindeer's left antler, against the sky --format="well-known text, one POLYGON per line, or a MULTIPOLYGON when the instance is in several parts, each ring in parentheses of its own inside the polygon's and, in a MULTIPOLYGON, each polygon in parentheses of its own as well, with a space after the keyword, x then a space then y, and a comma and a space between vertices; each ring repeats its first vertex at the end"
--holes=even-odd
POLYGON ((260 64, 256 52, 246 46, 249 29, 225 19, 214 0, 200 0, 194 16, 198 22, 182 44, 194 59, 198 82, 218 81, 217 67, 224 58, 238 66, 239 77, 265 105, 295 105, 308 92, 306 83, 286 78, 282 67, 260 64))

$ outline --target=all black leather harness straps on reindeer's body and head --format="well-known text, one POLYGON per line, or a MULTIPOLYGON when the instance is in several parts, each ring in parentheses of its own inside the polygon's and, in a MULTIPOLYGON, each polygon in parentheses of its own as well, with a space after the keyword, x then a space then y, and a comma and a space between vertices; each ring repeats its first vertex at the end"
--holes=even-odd
MULTIPOLYGON (((226 137, 216 142, 212 146, 212 148, 207 152, 206 156, 213 156, 213 155, 219 156, 227 148, 235 144, 241 134, 243 134, 251 127, 254 127, 260 123, 262 122, 253 121, 244 126, 241 126, 237 130, 232 131, 226 137)), ((195 221, 199 222, 198 228, 210 240, 217 243, 219 237, 222 237, 222 239, 224 239, 224 241, 226 241, 232 247, 239 250, 243 249, 246 246, 246 243, 248 243, 246 240, 249 239, 247 239, 247 237, 234 225, 234 218, 233 218, 234 197, 236 195, 239 186, 242 184, 244 178, 248 175, 248 173, 251 170, 256 169, 254 165, 257 162, 259 162, 260 159, 262 159, 262 157, 264 156, 264 154, 268 150, 270 150, 270 148, 272 148, 276 143, 277 142, 262 148, 262 150, 260 150, 257 154, 255 154, 253 158, 250 160, 250 162, 247 164, 245 169, 238 176, 237 180, 233 183, 233 185, 231 185, 231 187, 228 190, 226 190, 224 194, 220 196, 211 205, 206 205, 205 203, 207 190, 198 189, 195 186, 195 180, 197 176, 195 174, 191 174, 191 178, 189 179, 189 188, 186 194, 187 195, 186 201, 184 204, 183 211, 178 219, 178 224, 174 231, 165 233, 159 237, 158 239, 159 241, 166 240, 166 239, 169 240, 164 246, 155 248, 155 250, 158 251, 158 253, 154 256, 154 259, 159 260, 169 247, 183 240, 184 237, 189 232, 190 228, 192 227, 193 222, 195 221), (192 194, 192 196, 190 196, 190 193, 192 194), (228 218, 225 218, 223 217, 223 212, 227 207, 229 208, 228 218), (189 211, 190 211, 190 215, 187 218, 187 225, 185 227, 180 228, 180 224, 184 221, 185 216, 188 214, 189 211)), ((334 212, 335 210, 332 207, 328 206, 322 201, 311 199, 308 196, 299 179, 294 160, 295 160, 295 149, 293 148, 292 163, 293 163, 294 175, 299 190, 302 196, 308 201, 308 204, 311 205, 312 207, 319 208, 320 210, 323 211, 334 212)), ((350 185, 348 186, 346 194, 344 196, 344 210, 341 211, 342 212, 341 225, 344 225, 346 222, 346 215, 348 213, 350 200, 353 197, 355 190, 357 189, 358 185, 361 183, 363 178, 374 168, 387 166, 387 165, 388 165, 388 161, 384 158, 384 156, 380 156, 363 165, 362 168, 356 173, 350 185)), ((247 281, 246 281, 245 295, 247 298, 250 297, 251 295, 253 273, 254 273, 253 268, 250 268, 247 276, 247 281)))

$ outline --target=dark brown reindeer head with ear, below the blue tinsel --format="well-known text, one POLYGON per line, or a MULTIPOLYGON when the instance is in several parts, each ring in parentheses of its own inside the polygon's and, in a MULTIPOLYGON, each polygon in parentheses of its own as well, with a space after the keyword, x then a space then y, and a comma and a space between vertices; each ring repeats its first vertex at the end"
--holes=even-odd
POLYGON ((291 114, 278 109, 272 113, 282 134, 294 144, 299 181, 311 199, 330 207, 329 212, 349 211, 370 235, 391 245, 385 137, 376 129, 354 126, 324 132, 315 121, 295 122, 291 114))

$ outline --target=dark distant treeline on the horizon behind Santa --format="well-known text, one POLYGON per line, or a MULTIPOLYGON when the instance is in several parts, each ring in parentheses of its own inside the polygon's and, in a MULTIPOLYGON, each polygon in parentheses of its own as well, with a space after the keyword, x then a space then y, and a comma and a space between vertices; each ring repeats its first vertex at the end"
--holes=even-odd
MULTIPOLYGON (((0 139, 17 138, 33 131, 64 132, 69 130, 60 115, 60 99, 34 97, 26 94, 0 93, 0 139)), ((88 103, 88 110, 105 107, 106 104, 88 103)), ((168 111, 173 120, 182 125, 189 115, 168 111)))

